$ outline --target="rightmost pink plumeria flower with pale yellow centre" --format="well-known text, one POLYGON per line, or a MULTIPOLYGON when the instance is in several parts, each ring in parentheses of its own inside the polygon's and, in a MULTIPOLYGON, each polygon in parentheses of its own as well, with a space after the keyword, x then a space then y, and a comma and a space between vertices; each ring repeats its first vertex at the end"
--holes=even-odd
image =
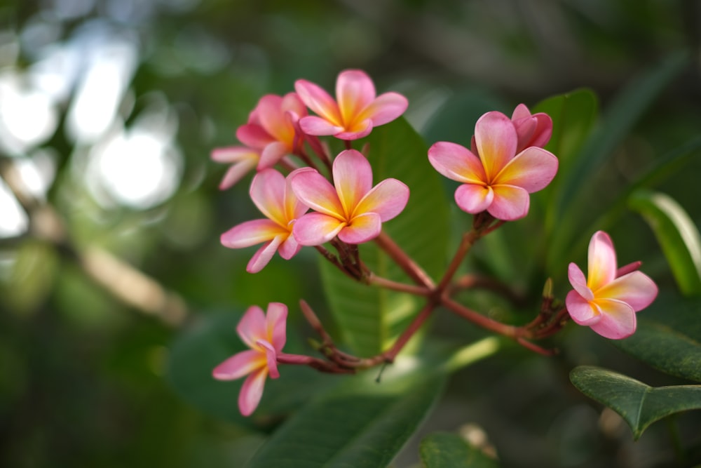
POLYGON ((634 271, 638 266, 617 270, 611 237, 603 231, 595 232, 589 243, 587 277, 577 265, 569 265, 574 290, 567 294, 565 303, 572 320, 613 340, 632 335, 635 313, 648 307, 658 294, 649 276, 634 271))

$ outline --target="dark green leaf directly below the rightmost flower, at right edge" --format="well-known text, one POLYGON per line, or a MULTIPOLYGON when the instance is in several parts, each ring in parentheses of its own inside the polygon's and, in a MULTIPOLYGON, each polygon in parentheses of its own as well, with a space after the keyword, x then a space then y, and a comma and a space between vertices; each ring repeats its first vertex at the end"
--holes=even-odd
POLYGON ((639 312, 635 333, 613 344, 662 372, 701 382, 701 303, 661 293, 639 312))

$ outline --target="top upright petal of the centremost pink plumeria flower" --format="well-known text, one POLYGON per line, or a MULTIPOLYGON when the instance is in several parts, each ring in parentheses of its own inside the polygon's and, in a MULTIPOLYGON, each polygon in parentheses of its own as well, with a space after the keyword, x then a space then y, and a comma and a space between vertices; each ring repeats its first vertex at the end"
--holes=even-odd
POLYGON ((349 218, 362 197, 372 189, 372 168, 360 152, 347 149, 336 156, 332 173, 343 213, 349 218))

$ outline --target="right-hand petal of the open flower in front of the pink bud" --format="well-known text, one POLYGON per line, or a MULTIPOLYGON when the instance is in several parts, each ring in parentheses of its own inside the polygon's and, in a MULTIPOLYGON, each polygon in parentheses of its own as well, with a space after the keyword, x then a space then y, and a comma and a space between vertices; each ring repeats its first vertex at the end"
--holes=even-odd
POLYGON ((493 183, 515 185, 533 193, 545 188, 557 173, 557 158, 543 148, 529 147, 509 161, 493 183))

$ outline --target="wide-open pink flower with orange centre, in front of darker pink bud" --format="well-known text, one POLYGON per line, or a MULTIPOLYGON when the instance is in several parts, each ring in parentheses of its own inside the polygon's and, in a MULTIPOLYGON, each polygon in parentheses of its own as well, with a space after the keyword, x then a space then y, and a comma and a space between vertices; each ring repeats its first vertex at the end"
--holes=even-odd
POLYGON ((445 177, 463 182, 455 201, 467 213, 486 210, 494 218, 517 220, 528 214, 529 194, 547 186, 557 173, 557 158, 543 148, 517 154, 517 130, 501 112, 487 112, 475 124, 477 154, 451 142, 428 149, 428 160, 445 177))

